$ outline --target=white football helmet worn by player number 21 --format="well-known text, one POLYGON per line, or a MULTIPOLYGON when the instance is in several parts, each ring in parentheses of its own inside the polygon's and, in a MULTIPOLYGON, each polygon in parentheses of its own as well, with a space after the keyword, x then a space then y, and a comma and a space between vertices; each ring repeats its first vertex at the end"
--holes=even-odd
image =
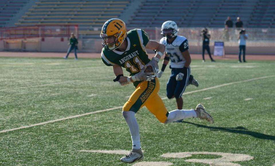
POLYGON ((166 21, 161 26, 160 34, 167 39, 176 37, 178 34, 178 26, 173 21, 166 21))

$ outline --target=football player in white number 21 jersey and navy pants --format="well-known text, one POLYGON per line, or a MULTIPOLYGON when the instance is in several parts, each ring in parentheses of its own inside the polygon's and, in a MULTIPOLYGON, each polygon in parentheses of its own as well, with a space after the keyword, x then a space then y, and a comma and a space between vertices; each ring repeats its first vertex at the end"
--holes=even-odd
MULTIPOLYGON (((163 38, 160 43, 165 45, 165 57, 158 78, 161 77, 166 65, 171 60, 171 75, 167 82, 166 95, 169 99, 176 98, 177 107, 182 109, 182 93, 188 84, 199 86, 197 80, 190 75, 191 57, 188 52, 188 41, 184 36, 177 35, 178 26, 173 21, 166 21, 161 26, 163 38)), ((179 120, 181 121, 181 120, 179 120)))

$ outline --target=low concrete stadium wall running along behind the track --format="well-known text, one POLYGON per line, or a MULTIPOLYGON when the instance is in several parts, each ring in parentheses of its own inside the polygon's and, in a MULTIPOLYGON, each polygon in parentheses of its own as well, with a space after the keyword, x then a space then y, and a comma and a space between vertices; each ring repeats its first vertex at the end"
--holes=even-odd
MULTIPOLYGON (((32 38, 27 40, 5 40, 0 41, 0 51, 39 51, 39 52, 67 52, 68 50, 68 38, 45 38, 41 41, 39 38, 32 38), (17 41, 17 42, 16 42, 17 41), (7 44, 9 42, 9 48, 7 44)), ((102 50, 102 40, 101 39, 79 39, 78 40, 78 52, 97 52, 100 53, 102 50)), ((213 54, 214 47, 210 46, 211 54, 213 54)), ((189 52, 191 54, 201 54, 201 46, 190 46, 189 52)), ((225 54, 238 54, 238 46, 225 46, 225 54)), ((153 51, 148 50, 148 53, 153 53, 153 51)), ((266 54, 275 55, 275 47, 265 46, 265 47, 246 47, 246 54, 266 54)))

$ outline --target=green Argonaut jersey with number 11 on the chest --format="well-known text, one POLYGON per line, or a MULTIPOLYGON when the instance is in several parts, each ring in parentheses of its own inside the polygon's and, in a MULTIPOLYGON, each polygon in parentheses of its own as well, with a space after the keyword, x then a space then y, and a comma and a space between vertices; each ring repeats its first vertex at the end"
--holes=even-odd
MULTIPOLYGON (((124 52, 117 50, 102 49, 101 60, 107 66, 115 64, 126 68, 130 76, 140 72, 147 63, 150 62, 145 46, 149 41, 148 34, 141 29, 133 29, 127 32, 126 39, 128 42, 124 52)), ((124 41, 125 42, 125 41, 124 41)), ((135 81, 133 85, 137 85, 142 81, 135 81)))

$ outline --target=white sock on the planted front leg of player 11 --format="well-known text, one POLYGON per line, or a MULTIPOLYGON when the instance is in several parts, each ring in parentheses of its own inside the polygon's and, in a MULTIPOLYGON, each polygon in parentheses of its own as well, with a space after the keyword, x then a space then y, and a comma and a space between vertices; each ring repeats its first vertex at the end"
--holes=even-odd
POLYGON ((127 122, 131 133, 133 149, 140 149, 140 130, 138 128, 137 120, 135 119, 135 112, 122 111, 122 115, 127 122))

